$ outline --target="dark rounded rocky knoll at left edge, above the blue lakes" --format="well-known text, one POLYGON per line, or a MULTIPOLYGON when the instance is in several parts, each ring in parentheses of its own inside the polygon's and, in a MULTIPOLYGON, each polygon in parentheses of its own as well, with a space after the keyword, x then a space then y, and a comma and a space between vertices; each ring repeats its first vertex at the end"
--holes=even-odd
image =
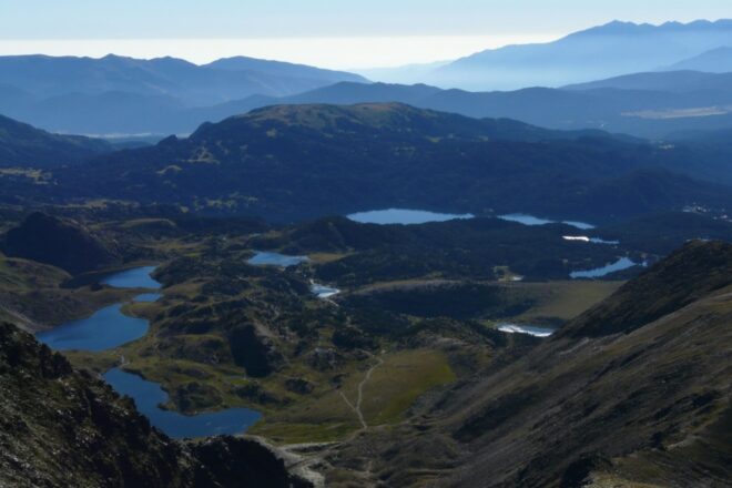
POLYGON ((40 212, 11 228, 0 247, 9 256, 51 264, 71 274, 98 270, 116 261, 114 254, 81 225, 40 212))

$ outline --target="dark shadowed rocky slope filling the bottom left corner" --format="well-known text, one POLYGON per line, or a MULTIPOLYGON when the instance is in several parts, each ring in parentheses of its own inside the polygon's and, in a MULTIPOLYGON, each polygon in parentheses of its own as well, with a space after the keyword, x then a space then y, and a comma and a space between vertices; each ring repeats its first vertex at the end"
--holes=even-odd
POLYGON ((304 487, 250 439, 179 443, 129 398, 0 324, 0 486, 304 487))

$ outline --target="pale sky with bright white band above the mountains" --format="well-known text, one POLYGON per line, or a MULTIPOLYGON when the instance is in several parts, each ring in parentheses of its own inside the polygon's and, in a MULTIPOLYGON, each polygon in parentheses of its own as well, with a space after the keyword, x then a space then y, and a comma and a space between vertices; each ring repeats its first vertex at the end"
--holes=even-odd
POLYGON ((611 20, 732 17, 730 0, 0 0, 0 54, 251 55, 334 69, 455 59, 611 20))

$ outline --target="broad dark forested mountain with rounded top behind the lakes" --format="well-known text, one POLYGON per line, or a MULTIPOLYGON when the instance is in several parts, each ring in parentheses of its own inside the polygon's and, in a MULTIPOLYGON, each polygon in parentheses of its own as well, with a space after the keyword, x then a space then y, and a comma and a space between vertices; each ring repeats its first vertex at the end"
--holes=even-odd
POLYGON ((0 194, 17 203, 111 199, 274 221, 390 206, 590 222, 691 204, 731 209, 729 187, 687 176, 698 166, 730 174, 726 157, 702 161, 599 131, 389 103, 279 105, 203 124, 187 139, 54 169, 44 185, 0 179, 0 194))

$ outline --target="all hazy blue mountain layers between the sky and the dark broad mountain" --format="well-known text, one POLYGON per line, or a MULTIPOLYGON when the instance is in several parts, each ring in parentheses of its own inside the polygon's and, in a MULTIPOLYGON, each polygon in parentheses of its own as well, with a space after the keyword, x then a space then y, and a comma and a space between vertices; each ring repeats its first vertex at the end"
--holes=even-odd
POLYGON ((396 78, 415 85, 244 57, 202 67, 172 58, 6 57, 0 113, 53 132, 167 135, 271 104, 401 102, 668 139, 732 128, 730 47, 732 21, 612 22, 546 44, 406 67, 411 74, 396 78))

